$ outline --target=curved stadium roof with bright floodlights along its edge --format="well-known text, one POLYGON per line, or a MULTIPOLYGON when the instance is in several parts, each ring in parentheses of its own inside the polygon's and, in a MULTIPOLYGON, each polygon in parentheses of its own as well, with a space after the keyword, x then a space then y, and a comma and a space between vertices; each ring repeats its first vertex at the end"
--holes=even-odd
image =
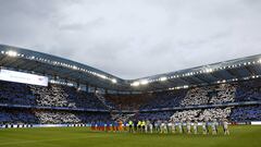
POLYGON ((64 58, 0 45, 0 66, 59 76, 109 90, 154 91, 260 78, 261 54, 127 81, 64 58))

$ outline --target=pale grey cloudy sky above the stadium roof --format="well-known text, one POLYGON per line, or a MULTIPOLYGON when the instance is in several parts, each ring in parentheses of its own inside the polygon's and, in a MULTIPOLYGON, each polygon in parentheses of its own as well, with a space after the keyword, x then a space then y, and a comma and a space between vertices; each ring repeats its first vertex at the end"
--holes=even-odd
POLYGON ((0 0, 0 44, 137 78, 261 53, 260 0, 0 0))

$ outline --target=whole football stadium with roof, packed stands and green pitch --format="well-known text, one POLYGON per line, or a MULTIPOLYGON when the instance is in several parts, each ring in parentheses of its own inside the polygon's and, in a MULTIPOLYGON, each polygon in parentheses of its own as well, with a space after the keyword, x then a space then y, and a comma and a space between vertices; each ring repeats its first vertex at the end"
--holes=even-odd
POLYGON ((122 79, 0 46, 0 146, 260 146, 261 54, 122 79))

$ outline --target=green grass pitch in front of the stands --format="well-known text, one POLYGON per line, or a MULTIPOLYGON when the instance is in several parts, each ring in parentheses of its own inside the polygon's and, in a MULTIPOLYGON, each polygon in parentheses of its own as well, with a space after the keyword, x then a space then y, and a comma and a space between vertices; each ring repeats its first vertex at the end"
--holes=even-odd
POLYGON ((231 126, 231 135, 128 134, 88 127, 0 130, 0 147, 261 147, 261 126, 231 126))

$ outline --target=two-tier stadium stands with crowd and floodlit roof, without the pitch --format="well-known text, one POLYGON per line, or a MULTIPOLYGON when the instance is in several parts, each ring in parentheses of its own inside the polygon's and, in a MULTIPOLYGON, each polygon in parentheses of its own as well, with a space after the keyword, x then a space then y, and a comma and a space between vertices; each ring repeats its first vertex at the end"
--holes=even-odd
POLYGON ((0 81, 0 124, 261 121, 260 57, 149 76, 142 83, 141 78, 126 81, 71 60, 0 45, 0 73, 10 70, 48 77, 48 86, 0 81))

